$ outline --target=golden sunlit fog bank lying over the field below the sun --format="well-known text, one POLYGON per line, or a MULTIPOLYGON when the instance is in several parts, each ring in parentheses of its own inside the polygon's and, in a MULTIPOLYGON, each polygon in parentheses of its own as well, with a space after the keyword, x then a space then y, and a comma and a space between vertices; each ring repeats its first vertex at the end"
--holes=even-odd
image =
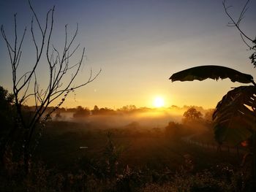
MULTIPOLYGON (((97 128, 165 128, 170 121, 181 123, 184 112, 189 107, 155 108, 147 110, 135 110, 134 112, 116 111, 114 114, 88 115, 84 118, 74 118, 74 112, 61 112, 59 120, 90 123, 97 128)), ((204 115, 208 110, 196 107, 204 115)), ((56 113, 53 113, 53 119, 56 113)))

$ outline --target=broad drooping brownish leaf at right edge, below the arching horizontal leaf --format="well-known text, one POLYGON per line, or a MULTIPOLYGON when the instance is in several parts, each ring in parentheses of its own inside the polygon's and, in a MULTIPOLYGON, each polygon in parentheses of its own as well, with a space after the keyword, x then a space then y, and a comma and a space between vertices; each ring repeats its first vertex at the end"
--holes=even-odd
POLYGON ((256 87, 241 86, 223 96, 214 111, 215 139, 231 145, 249 139, 256 131, 256 87))

